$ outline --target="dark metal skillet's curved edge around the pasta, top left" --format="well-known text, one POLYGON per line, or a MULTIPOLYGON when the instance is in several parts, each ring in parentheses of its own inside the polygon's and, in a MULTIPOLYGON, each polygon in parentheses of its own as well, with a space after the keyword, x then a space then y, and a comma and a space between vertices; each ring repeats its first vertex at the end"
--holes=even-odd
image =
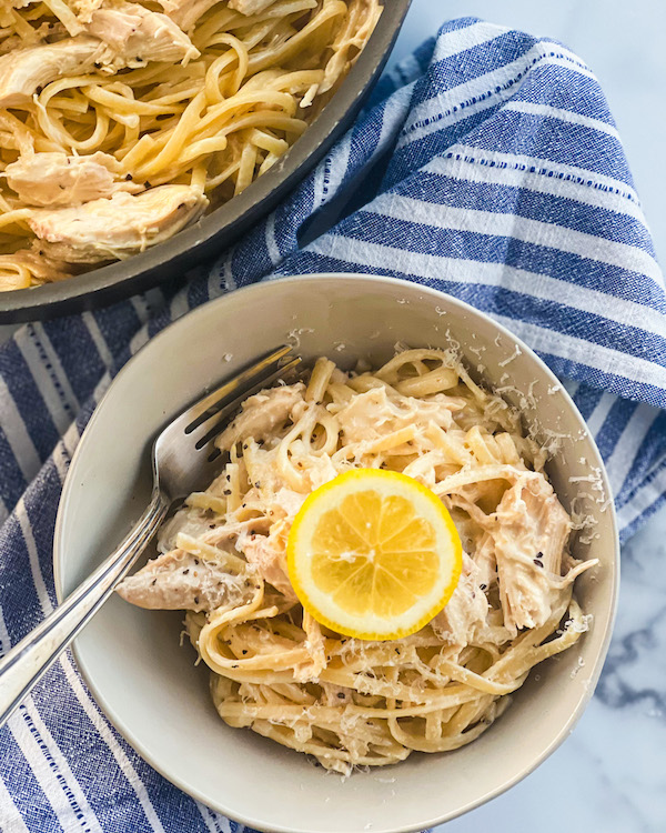
POLYGON ((0 324, 57 318, 103 307, 182 274, 261 220, 322 159, 352 124, 379 78, 411 0, 384 0, 385 10, 340 90, 283 160, 246 191, 141 254, 57 283, 0 292, 0 324))

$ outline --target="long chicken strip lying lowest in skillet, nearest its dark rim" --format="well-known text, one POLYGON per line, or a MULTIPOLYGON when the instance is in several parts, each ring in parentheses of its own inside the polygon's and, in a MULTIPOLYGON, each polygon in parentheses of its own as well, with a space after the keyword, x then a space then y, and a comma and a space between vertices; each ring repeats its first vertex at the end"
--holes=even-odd
POLYGON ((160 185, 79 208, 36 209, 28 224, 52 258, 98 263, 143 251, 201 215, 208 199, 190 185, 160 185))

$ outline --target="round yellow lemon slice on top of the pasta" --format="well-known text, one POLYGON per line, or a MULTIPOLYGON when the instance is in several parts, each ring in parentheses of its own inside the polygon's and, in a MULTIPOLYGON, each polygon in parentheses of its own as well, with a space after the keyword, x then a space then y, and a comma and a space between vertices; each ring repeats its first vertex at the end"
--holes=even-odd
POLYGON ((393 640, 448 602, 462 545, 430 489, 405 474, 355 469, 306 499, 286 559, 299 601, 317 622, 347 636, 393 640))

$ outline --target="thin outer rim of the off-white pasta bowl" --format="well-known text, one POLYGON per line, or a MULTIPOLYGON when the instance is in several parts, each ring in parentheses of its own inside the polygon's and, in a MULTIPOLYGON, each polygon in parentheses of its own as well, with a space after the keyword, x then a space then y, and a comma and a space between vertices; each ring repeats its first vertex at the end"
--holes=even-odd
MULTIPOLYGON (((541 359, 531 347, 528 347, 524 341, 522 341, 522 339, 519 339, 517 335, 512 333, 511 330, 508 330, 506 327, 495 321, 491 315, 486 314, 485 312, 482 312, 475 307, 472 307, 465 301, 461 301, 454 295, 451 295, 433 287, 425 287, 414 281, 393 278, 391 275, 375 275, 375 274, 356 273, 356 272, 323 272, 323 273, 290 275, 290 277, 274 279, 274 281, 271 281, 271 282, 299 284, 299 283, 316 283, 322 280, 331 280, 331 279, 337 279, 337 280, 354 279, 356 281, 364 281, 371 287, 373 284, 384 284, 384 285, 389 284, 389 285, 395 287, 396 290, 405 291, 408 289, 410 291, 417 291, 426 295, 432 295, 433 300, 445 298, 447 303, 452 304, 453 307, 458 308, 460 312, 471 314, 473 318, 478 317, 490 322, 496 329, 500 335, 507 338, 513 344, 516 344, 524 353, 526 353, 531 358, 533 362, 536 362, 536 364, 539 365, 541 370, 546 374, 546 377, 552 381, 552 383, 558 387, 558 390, 557 390, 558 395, 563 398, 568 409, 573 412, 574 416, 581 423, 581 426, 585 430, 586 435, 592 445, 592 449, 596 454, 596 460, 594 461, 594 464, 595 466, 598 465, 601 469, 601 481, 604 485, 606 494, 609 494, 609 495, 613 494, 613 492, 610 491, 610 485, 608 482, 606 468, 602 459, 601 452, 597 448, 596 441, 594 436, 592 435, 592 433, 589 432, 587 424, 585 420, 583 419, 581 412, 578 411, 576 404, 574 403, 573 399, 571 398, 571 395, 564 388, 564 385, 562 385, 561 380, 553 373, 553 371, 543 361, 543 359, 541 359)), ((253 295, 261 297, 263 293, 263 289, 264 289, 262 284, 263 282, 253 283, 249 287, 243 287, 241 289, 234 290, 231 293, 225 293, 224 295, 221 295, 220 298, 213 299, 212 301, 208 301, 201 304, 194 310, 191 310, 190 312, 185 313, 181 318, 176 319, 171 324, 169 324, 163 330, 161 330, 157 335, 150 339, 150 341, 143 344, 137 351, 137 353, 125 363, 125 365, 119 371, 119 373, 115 375, 115 378, 109 385, 109 389, 105 391, 104 395, 102 397, 97 408, 94 409, 92 416, 88 425, 85 426, 79 440, 79 443, 74 450, 74 454, 72 455, 72 459, 68 469, 68 473, 67 473, 67 476, 62 486, 62 493, 61 493, 61 498, 60 498, 59 505, 58 505, 58 513, 56 518, 56 526, 54 526, 54 532, 53 532, 53 556, 52 559, 53 559, 53 581, 56 585, 56 596, 57 596, 59 604, 63 601, 63 598, 64 598, 63 596, 64 548, 61 545, 61 539, 64 534, 63 509, 70 496, 69 492, 72 488, 71 484, 75 480, 75 470, 77 470, 78 461, 79 459, 83 458, 85 454, 87 434, 88 436, 90 436, 92 433, 92 432, 89 432, 88 429, 94 424, 94 421, 99 416, 102 408, 104 407, 104 403, 110 398, 111 391, 117 380, 120 379, 121 375, 127 372, 128 367, 134 362, 137 357, 144 353, 149 348, 151 350, 157 349, 153 345, 157 344, 159 347, 162 341, 167 340, 169 338, 168 333, 176 329, 186 329, 186 328, 193 327, 199 315, 210 314, 211 305, 220 307, 223 309, 224 304, 229 301, 229 298, 231 295, 236 295, 238 293, 242 293, 242 297, 248 300, 250 300, 253 295)), ((610 639, 613 635, 613 630, 614 630, 614 624, 615 624, 615 619, 616 619, 616 613, 617 613, 618 594, 619 594, 619 535, 618 535, 618 529, 617 529, 617 514, 615 511, 614 501, 610 501, 608 503, 607 514, 606 514, 605 520, 606 520, 606 523, 610 525, 610 531, 613 533, 613 541, 614 541, 613 559, 612 559, 612 562, 609 562, 613 565, 610 605, 607 612, 607 616, 605 621, 602 623, 604 625, 604 636, 601 643, 599 651, 595 658, 593 673, 589 676, 589 685, 587 686, 587 690, 584 696, 579 700, 578 705, 575 709, 575 711, 572 712, 568 720, 559 727, 559 730, 557 731, 557 733, 555 734, 551 743, 541 752, 541 754, 537 755, 527 766, 525 766, 515 776, 507 779, 506 781, 503 781, 495 789, 478 796, 478 799, 467 802, 467 804, 464 807, 458 809, 455 813, 447 812, 442 815, 434 816, 432 819, 422 819, 417 822, 410 823, 407 825, 402 825, 400 827, 384 827, 384 826, 377 827, 376 833, 414 833, 416 831, 422 831, 426 827, 434 827, 440 824, 444 824, 447 821, 457 819, 468 813, 470 811, 475 810, 478 806, 482 806, 488 801, 492 801, 498 795, 502 795, 507 790, 515 786, 517 783, 519 783, 525 777, 527 777, 527 775, 532 774, 538 766, 541 766, 541 764, 546 759, 548 759, 564 743, 564 741, 573 732, 574 727, 576 726, 576 724, 583 716, 584 712, 586 711, 594 695, 596 685, 598 683, 598 680, 603 670, 604 661, 606 659, 608 648, 610 644, 610 639)), ((595 621, 596 619, 597 619, 597 614, 595 614, 595 621)), ((85 684, 88 685, 92 696, 94 697, 100 709, 103 711, 104 716, 120 732, 120 734, 130 744, 130 746, 132 746, 132 749, 134 749, 134 751, 139 755, 141 755, 141 757, 144 761, 147 761, 147 763, 149 763, 150 766, 152 766, 170 783, 174 784, 178 789, 182 790, 184 793, 186 793, 191 797, 200 801, 202 804, 210 806, 209 795, 203 794, 203 792, 201 792, 196 787, 195 784, 188 783, 183 779, 174 779, 169 773, 167 765, 162 764, 159 760, 154 759, 151 751, 147 749, 147 746, 140 740, 132 736, 131 732, 125 726, 122 717, 118 713, 115 713, 115 711, 109 705, 103 694, 103 691, 101 691, 95 685, 94 680, 92 680, 89 676, 88 671, 85 669, 84 661, 79 654, 77 640, 73 641, 73 643, 71 644, 71 648, 72 648, 72 653, 74 655, 77 668, 79 672, 81 673, 85 684)), ((216 806, 215 805, 213 806, 213 809, 224 814, 225 816, 229 816, 230 819, 242 822, 243 824, 252 829, 264 830, 266 833, 293 833, 292 827, 286 827, 281 824, 273 825, 273 826, 266 825, 266 822, 263 819, 254 819, 249 813, 239 814, 235 809, 230 811, 230 809, 224 806, 224 803, 225 803, 224 801, 220 801, 218 802, 216 806)))

